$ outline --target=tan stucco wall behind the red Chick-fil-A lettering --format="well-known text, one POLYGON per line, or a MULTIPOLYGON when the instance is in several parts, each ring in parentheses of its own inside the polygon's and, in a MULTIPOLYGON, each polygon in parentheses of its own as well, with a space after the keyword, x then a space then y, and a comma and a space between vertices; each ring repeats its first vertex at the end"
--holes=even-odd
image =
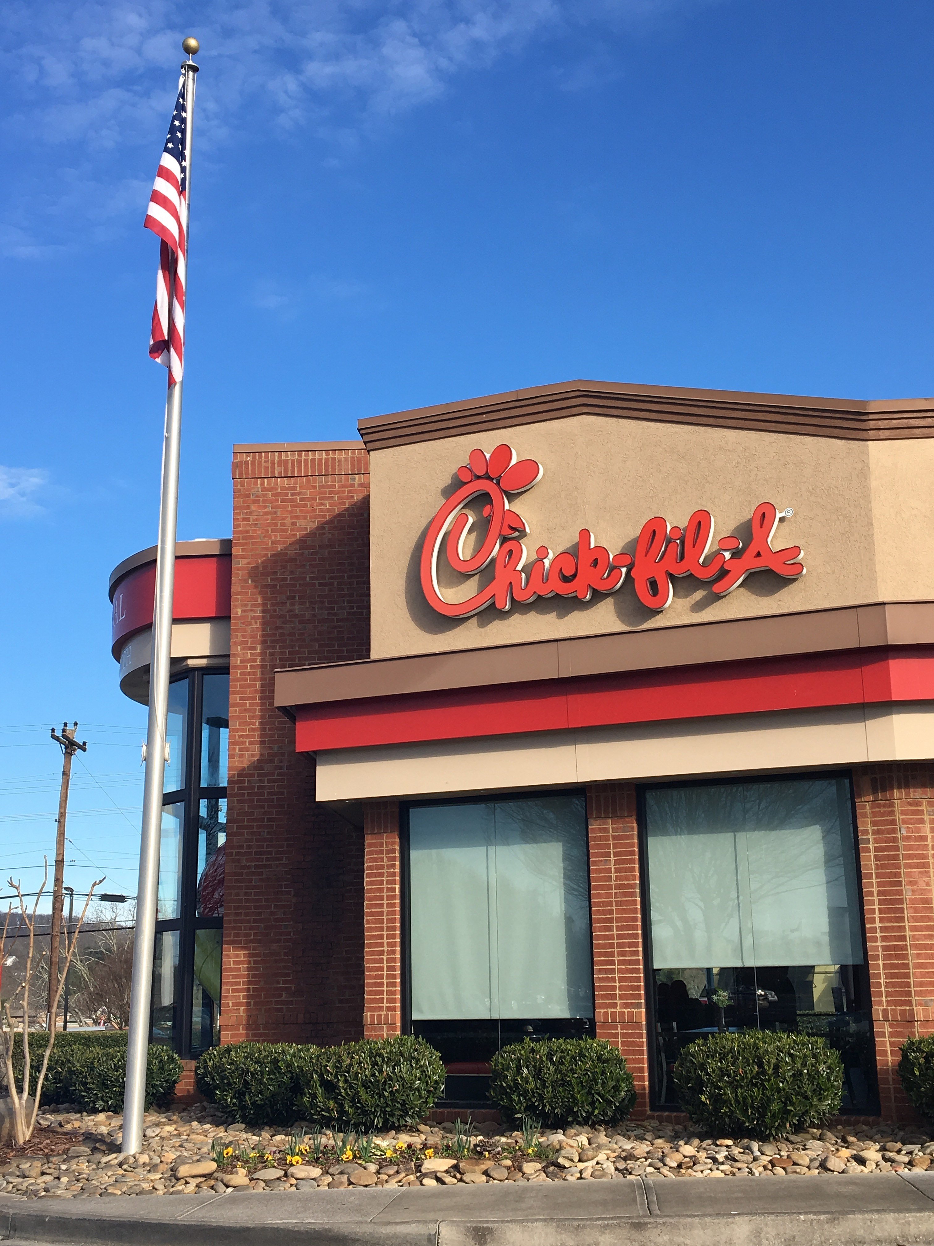
MULTIPOLYGON (((934 598, 934 440, 861 442, 585 415, 377 450, 371 473, 374 658, 934 598), (697 507, 714 515, 716 548, 719 536, 746 538, 753 508, 771 501, 795 510, 772 545, 803 546, 807 574, 757 572, 725 598, 677 579, 661 613, 643 607, 626 581, 589 603, 549 598, 447 621, 418 582, 425 531, 469 451, 501 441, 544 467, 516 500, 531 528, 527 564, 539 543, 573 549, 582 527, 611 553, 631 552, 646 520, 684 525, 697 507)), ((461 583, 460 597, 477 591, 478 581, 461 583)))

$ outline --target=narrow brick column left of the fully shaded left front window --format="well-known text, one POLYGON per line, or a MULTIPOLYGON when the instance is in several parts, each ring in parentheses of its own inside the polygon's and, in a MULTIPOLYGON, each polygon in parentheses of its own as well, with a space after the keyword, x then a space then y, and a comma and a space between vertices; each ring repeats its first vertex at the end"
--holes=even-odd
POLYGON ((399 802, 364 802, 364 1038, 402 1027, 399 802))

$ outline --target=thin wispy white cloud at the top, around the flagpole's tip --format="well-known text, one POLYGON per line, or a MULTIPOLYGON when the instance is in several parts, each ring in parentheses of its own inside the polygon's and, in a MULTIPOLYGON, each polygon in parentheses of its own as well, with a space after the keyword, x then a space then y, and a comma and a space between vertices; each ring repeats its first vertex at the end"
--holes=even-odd
MULTIPOLYGON (((32 166, 7 157, 15 216, 4 216, 14 234, 24 221, 55 234, 49 218, 56 214, 61 237, 87 238, 82 222, 92 238, 130 224, 146 203, 186 34, 200 39, 209 71, 197 120, 199 159, 209 163, 222 150, 258 141, 270 125, 311 130, 346 148, 438 98, 458 75, 488 69, 535 39, 593 27, 597 52, 580 51, 579 65, 568 52, 558 75, 565 90, 585 90, 614 76, 623 30, 644 31, 716 2, 202 0, 191 21, 181 0, 6 0, 0 71, 16 115, 5 130, 32 166), (42 159, 44 148, 60 150, 68 166, 42 159), (76 152, 88 167, 73 167, 76 152)), ((0 237, 0 250, 21 259, 49 254, 30 237, 0 237)))

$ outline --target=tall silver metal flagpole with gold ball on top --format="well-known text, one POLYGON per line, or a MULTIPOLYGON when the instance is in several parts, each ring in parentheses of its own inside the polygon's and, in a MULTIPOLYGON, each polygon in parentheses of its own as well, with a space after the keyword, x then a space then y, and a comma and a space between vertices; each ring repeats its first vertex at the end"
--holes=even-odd
MULTIPOLYGON (((184 74, 186 127, 186 262, 188 218, 192 196, 192 131, 194 113, 194 76, 198 66, 192 56, 197 39, 186 39, 182 47, 188 60, 184 74)), ((156 601, 152 619, 152 657, 149 664, 149 719, 146 730, 146 779, 143 785, 143 824, 139 845, 139 882, 136 901, 136 939, 133 943, 133 981, 130 992, 130 1033, 127 1035, 127 1080, 123 1096, 125 1155, 142 1149, 146 1108, 146 1059, 149 1047, 149 1004, 152 962, 156 946, 156 911, 159 887, 159 837, 162 834, 162 787, 166 771, 166 726, 168 718, 168 677, 172 665, 172 597, 176 579, 176 531, 178 525, 178 461, 182 444, 182 380, 169 385, 166 399, 166 432, 162 446, 162 500, 159 503, 159 542, 156 553, 156 601)))

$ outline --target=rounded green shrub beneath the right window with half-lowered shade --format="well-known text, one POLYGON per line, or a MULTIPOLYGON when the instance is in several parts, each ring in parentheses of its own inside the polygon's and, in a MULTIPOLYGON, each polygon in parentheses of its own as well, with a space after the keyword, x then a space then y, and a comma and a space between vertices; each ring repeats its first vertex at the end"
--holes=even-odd
POLYGON ((746 1030, 686 1047, 672 1070, 681 1106, 714 1135, 775 1138, 839 1111, 843 1062, 822 1038, 746 1030))

